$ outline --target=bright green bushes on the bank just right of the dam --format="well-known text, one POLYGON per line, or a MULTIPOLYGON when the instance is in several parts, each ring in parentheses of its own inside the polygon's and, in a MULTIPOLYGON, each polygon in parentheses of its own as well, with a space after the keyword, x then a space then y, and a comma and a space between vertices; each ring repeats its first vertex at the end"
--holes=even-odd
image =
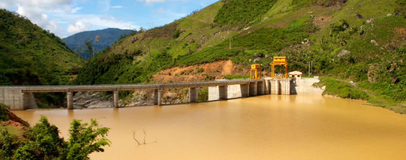
POLYGON ((320 82, 314 83, 317 87, 326 86, 323 94, 338 96, 340 98, 368 100, 370 96, 365 91, 361 91, 351 83, 339 81, 336 79, 321 79, 320 82))

